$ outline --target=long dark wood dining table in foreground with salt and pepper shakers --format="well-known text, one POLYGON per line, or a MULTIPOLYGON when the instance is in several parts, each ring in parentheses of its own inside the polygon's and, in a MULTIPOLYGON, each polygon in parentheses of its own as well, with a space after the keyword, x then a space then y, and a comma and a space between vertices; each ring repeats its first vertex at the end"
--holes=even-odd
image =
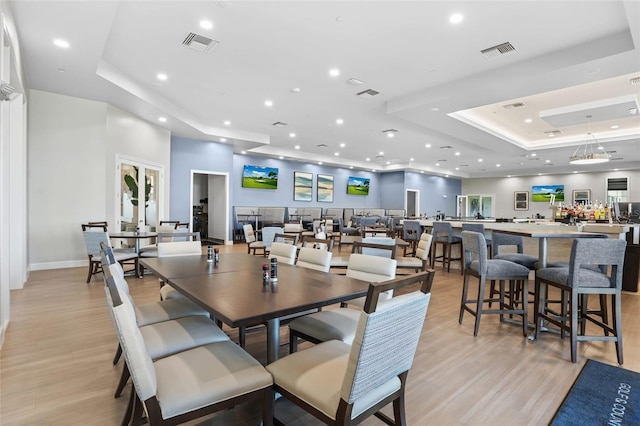
POLYGON ((230 327, 267 325, 267 362, 278 359, 280 319, 366 296, 369 283, 344 275, 279 264, 278 281, 262 280, 267 259, 245 253, 141 259, 170 286, 230 327))

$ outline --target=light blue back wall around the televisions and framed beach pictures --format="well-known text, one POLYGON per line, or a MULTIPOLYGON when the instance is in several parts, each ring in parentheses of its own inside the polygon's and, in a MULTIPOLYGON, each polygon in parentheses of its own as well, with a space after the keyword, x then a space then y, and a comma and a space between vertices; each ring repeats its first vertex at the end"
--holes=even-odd
MULTIPOLYGON (((322 208, 388 208, 403 209, 406 189, 420 190, 420 213, 433 216, 440 210, 453 216, 456 195, 462 193, 460 179, 430 176, 413 172, 373 173, 348 168, 320 166, 297 161, 237 155, 231 145, 173 136, 171 138, 170 218, 187 220, 191 214, 191 170, 229 173, 230 210, 234 206, 258 207, 322 207, 322 208), (278 189, 242 187, 245 164, 278 168, 278 189), (293 172, 313 173, 312 201, 293 201, 293 172), (333 203, 317 201, 317 174, 333 175, 333 203), (349 176, 371 179, 369 195, 347 194, 349 176), (445 197, 446 196, 446 197, 445 197)), ((230 220, 233 223, 233 220, 230 220)))

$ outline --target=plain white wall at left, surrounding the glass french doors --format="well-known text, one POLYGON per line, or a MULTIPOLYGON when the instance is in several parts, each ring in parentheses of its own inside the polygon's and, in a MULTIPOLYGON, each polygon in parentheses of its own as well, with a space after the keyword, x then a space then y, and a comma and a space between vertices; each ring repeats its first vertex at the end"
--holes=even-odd
MULTIPOLYGON (((80 225, 114 224, 115 155, 169 170, 169 132, 102 102, 32 91, 29 112, 29 267, 87 265, 80 225)), ((163 188, 168 210, 168 178, 163 188)))

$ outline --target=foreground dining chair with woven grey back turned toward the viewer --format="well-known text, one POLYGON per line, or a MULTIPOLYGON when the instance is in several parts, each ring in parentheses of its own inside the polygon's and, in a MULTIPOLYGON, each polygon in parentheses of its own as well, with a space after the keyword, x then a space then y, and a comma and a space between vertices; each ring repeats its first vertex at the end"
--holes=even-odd
POLYGON ((358 312, 353 344, 329 340, 269 364, 274 389, 326 424, 359 424, 374 414, 387 424, 406 424, 406 379, 427 315, 432 280, 429 271, 370 284, 364 309, 358 312), (418 282, 422 283, 418 291, 380 300, 383 292, 418 282), (393 420, 379 412, 390 403, 393 420))

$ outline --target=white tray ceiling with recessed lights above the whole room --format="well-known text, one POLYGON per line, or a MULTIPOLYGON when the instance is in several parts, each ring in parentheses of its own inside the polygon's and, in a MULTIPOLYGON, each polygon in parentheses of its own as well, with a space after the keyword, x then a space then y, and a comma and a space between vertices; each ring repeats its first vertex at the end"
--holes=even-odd
POLYGON ((30 88, 235 152, 459 177, 640 168, 639 1, 8 3, 30 88), (190 32, 219 44, 186 47, 190 32), (613 161, 571 166, 589 127, 613 161))

